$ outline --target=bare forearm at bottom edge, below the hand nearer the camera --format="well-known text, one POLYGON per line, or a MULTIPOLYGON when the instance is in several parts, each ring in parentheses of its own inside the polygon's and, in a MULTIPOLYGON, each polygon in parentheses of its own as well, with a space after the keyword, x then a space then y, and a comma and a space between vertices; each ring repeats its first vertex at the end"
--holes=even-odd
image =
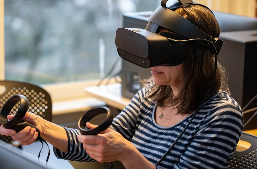
POLYGON ((127 148, 127 153, 125 157, 121 159, 121 162, 126 169, 133 169, 133 168, 155 169, 156 168, 136 149, 136 147, 134 147, 134 145, 129 146, 127 148))

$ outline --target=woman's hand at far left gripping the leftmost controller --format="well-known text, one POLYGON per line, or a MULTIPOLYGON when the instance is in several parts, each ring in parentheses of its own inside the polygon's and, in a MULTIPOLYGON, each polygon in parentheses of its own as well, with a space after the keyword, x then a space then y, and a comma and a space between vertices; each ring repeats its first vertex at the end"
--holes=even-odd
MULTIPOLYGON (((7 116, 7 118, 10 120, 13 117, 14 117, 14 115, 7 116)), ((38 128, 40 134, 43 133, 43 129, 44 129, 43 124, 44 123, 42 122, 43 118, 41 118, 40 116, 37 116, 36 114, 30 113, 30 112, 27 112, 22 120, 30 122, 31 124, 33 124, 34 126, 36 126, 38 128)), ((19 143, 21 143, 21 145, 29 145, 29 144, 33 143, 37 139, 37 136, 38 136, 38 132, 36 132, 36 129, 31 128, 30 126, 27 126, 23 130, 16 133, 15 130, 4 128, 3 125, 1 125, 0 134, 11 136, 14 140, 19 141, 19 143)))

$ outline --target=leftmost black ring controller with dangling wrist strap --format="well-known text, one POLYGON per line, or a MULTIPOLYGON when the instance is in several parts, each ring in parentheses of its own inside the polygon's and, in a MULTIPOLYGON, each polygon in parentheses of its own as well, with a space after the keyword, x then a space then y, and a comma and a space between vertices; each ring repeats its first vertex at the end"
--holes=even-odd
POLYGON ((0 111, 0 123, 5 127, 9 129, 13 129, 16 132, 19 132, 23 130, 25 127, 30 126, 31 128, 35 128, 36 132, 38 132, 38 137, 40 137, 40 132, 36 126, 31 124, 30 122, 22 120, 22 118, 25 116, 27 110, 29 108, 29 101, 28 99, 23 95, 14 95, 10 97, 5 104, 3 105, 1 111, 0 111), (16 113, 16 115, 13 117, 13 119, 9 120, 7 119, 7 116, 10 114, 11 110, 13 109, 13 106, 20 101, 20 107, 16 113))

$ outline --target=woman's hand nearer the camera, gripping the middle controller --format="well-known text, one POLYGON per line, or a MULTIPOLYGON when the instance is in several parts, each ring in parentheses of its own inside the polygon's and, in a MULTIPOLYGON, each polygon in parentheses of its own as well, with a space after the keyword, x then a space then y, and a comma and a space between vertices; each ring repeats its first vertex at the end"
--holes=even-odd
MULTIPOLYGON (((96 128, 97 125, 87 122, 88 128, 96 128)), ((130 141, 120 133, 108 128, 98 135, 78 135, 79 142, 89 156, 99 162, 122 161, 127 158, 133 149, 130 141)))

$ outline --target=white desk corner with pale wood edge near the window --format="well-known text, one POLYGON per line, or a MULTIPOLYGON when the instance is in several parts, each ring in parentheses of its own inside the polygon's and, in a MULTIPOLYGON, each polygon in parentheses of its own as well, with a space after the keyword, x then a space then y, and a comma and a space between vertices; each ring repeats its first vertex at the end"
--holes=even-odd
POLYGON ((104 101, 107 105, 123 110, 131 99, 121 95, 121 84, 110 84, 102 86, 86 87, 85 91, 88 95, 104 101))

